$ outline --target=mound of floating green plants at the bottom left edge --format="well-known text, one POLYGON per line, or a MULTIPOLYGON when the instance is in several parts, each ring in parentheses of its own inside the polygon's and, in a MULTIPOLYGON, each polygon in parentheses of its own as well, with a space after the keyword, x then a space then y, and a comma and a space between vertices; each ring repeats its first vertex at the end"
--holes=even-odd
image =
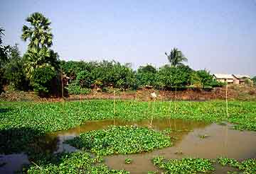
POLYGON ((27 173, 129 173, 125 170, 111 170, 104 164, 97 162, 97 158, 92 158, 90 153, 61 153, 50 159, 50 162, 41 166, 31 166, 27 173))

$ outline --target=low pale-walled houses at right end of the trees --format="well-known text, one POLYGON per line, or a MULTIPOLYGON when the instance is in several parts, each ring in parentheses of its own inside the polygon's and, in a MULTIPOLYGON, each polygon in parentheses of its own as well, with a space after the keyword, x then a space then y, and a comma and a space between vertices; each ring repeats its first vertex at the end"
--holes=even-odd
POLYGON ((244 85, 246 82, 251 83, 250 76, 238 74, 213 74, 213 79, 220 82, 228 82, 228 84, 244 85))

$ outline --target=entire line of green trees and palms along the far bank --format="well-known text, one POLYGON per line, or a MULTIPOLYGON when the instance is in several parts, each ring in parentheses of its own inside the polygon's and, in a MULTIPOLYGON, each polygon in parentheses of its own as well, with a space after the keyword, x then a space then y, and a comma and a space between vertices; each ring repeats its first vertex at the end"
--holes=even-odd
MULTIPOLYGON (((122 90, 151 86, 158 89, 173 88, 212 88, 223 86, 213 79, 209 71, 195 71, 183 64, 188 59, 174 48, 166 54, 169 64, 156 69, 150 64, 139 66, 137 71, 131 64, 113 61, 74 62, 60 61, 58 53, 51 49, 53 34, 50 20, 42 13, 32 13, 23 25, 21 39, 28 42, 27 51, 21 56, 18 45, 4 46, 0 28, 0 92, 5 85, 16 90, 35 91, 38 95, 58 95, 69 93, 88 93, 92 88, 102 90, 112 86, 122 90), (63 74, 71 79, 63 86, 63 74)), ((256 77, 254 78, 256 81, 256 77)))

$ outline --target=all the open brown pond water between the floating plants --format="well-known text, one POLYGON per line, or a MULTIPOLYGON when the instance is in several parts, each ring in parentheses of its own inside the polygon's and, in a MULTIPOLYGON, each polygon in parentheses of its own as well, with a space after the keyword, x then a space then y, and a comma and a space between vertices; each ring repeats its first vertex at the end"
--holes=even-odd
MULTIPOLYGON (((106 129, 110 125, 133 125, 137 127, 149 127, 156 130, 170 128, 174 130, 170 134, 174 137, 174 146, 155 150, 149 153, 137 153, 130 155, 106 156, 105 164, 113 169, 124 169, 131 173, 146 173, 149 170, 158 170, 151 159, 155 156, 165 158, 218 158, 225 156, 242 160, 256 158, 256 132, 238 131, 230 129, 231 124, 211 124, 191 120, 154 119, 140 122, 126 122, 124 120, 96 120, 87 121, 73 129, 63 130, 47 134, 46 137, 35 139, 39 151, 47 153, 59 153, 62 151, 78 151, 73 146, 64 144, 63 141, 73 139, 82 132, 97 129, 106 129), (125 158, 132 158, 132 163, 125 164, 125 158)), ((1 155, 0 173, 13 173, 21 170, 22 164, 27 164, 28 156, 24 153, 1 155)), ((217 167, 218 173, 225 168, 217 167)))

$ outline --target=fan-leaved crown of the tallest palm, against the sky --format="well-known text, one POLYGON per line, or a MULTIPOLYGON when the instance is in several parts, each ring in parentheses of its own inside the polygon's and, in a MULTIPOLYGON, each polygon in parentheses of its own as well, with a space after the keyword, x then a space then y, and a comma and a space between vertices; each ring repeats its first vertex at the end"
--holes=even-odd
POLYGON ((23 25, 21 39, 30 40, 28 47, 50 47, 53 45, 53 34, 50 32, 50 21, 42 13, 32 13, 26 18, 31 26, 23 25))

